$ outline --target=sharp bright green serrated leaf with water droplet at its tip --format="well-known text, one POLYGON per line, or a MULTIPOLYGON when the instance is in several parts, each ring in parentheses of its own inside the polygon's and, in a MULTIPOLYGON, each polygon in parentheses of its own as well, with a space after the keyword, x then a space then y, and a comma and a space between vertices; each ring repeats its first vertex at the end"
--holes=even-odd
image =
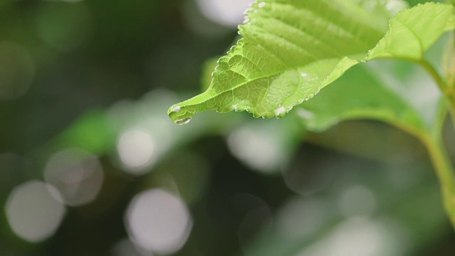
POLYGON ((353 65, 374 58, 419 62, 442 33, 455 28, 451 5, 429 3, 397 14, 386 31, 392 15, 384 11, 387 4, 366 0, 253 4, 240 26, 243 38, 218 60, 208 90, 174 105, 168 114, 177 123, 205 110, 283 117, 353 65), (373 7, 366 9, 365 3, 373 7))

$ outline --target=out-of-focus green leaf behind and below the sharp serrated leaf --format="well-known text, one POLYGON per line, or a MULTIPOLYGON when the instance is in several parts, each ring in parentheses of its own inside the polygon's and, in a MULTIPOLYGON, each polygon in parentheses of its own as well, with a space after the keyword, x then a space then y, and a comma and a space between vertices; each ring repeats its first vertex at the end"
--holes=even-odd
MULTIPOLYGON (((425 58, 442 63, 449 35, 425 58)), ((296 107, 306 128, 322 132, 348 119, 377 119, 420 137, 439 134, 447 112, 444 96, 424 68, 403 60, 375 60, 348 70, 318 97, 296 107)))

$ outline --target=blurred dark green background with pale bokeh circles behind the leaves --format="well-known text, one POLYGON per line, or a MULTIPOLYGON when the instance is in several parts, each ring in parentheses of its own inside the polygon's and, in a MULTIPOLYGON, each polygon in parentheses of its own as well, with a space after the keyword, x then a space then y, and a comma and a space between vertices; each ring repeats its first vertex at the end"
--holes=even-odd
POLYGON ((427 152, 393 127, 168 119, 248 4, 0 1, 0 255, 455 255, 427 152))

